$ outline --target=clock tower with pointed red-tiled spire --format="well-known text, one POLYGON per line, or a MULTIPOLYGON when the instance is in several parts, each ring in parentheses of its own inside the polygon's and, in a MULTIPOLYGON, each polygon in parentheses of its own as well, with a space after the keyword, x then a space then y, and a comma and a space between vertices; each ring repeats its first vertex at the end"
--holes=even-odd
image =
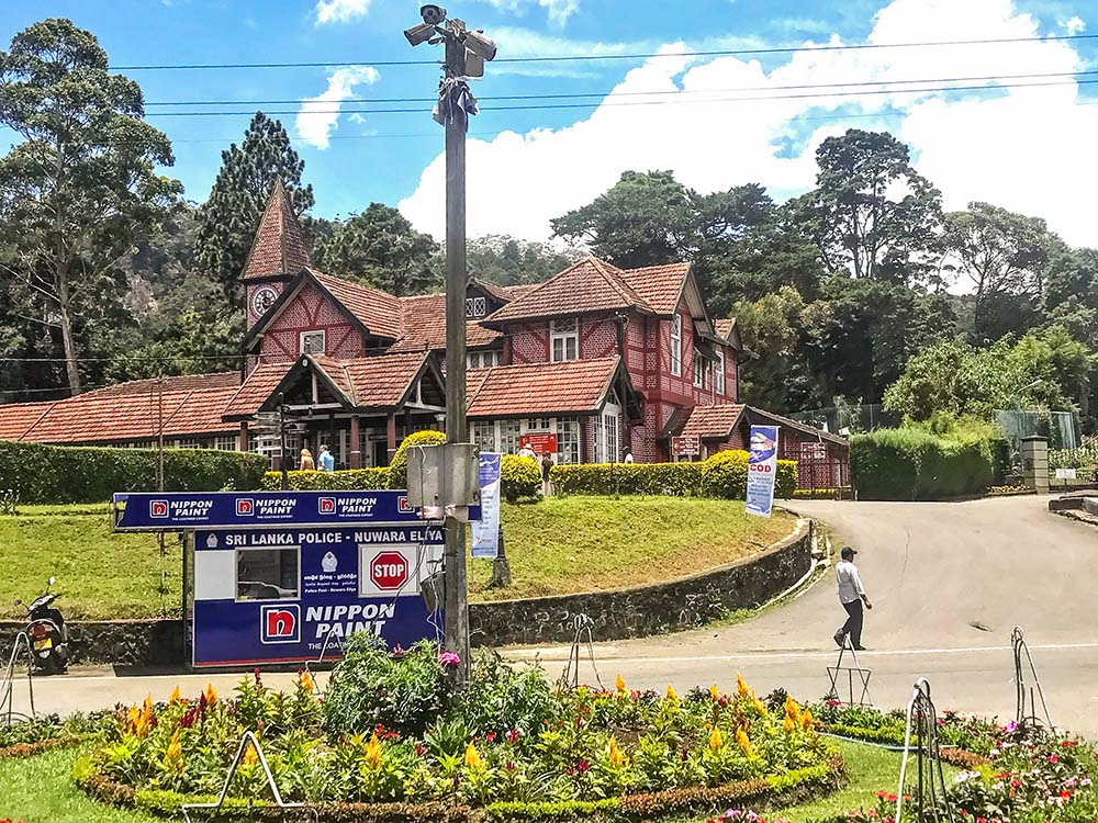
POLYGON ((293 213, 282 181, 276 180, 240 275, 247 295, 245 309, 248 329, 278 300, 285 284, 309 266, 312 266, 312 261, 305 246, 304 232, 293 213))

